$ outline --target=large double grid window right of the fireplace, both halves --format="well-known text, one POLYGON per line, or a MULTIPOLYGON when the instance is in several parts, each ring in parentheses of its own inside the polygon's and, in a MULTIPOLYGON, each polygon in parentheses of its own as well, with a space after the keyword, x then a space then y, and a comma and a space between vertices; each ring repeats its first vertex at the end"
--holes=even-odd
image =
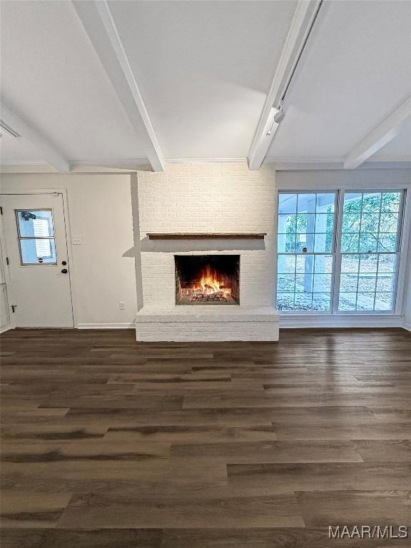
POLYGON ((401 191, 280 192, 277 309, 395 309, 401 191))

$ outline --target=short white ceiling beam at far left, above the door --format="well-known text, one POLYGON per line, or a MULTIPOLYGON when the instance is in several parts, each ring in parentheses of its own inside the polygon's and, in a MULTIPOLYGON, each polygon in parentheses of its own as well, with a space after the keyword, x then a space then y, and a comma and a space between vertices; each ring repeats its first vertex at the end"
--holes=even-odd
POLYGON ((56 150, 53 144, 46 141, 34 128, 29 126, 20 116, 11 111, 11 108, 1 103, 1 121, 9 126, 12 130, 19 134, 16 139, 24 138, 36 148, 39 153, 39 160, 49 164, 52 168, 60 173, 68 173, 70 164, 59 151, 56 150))

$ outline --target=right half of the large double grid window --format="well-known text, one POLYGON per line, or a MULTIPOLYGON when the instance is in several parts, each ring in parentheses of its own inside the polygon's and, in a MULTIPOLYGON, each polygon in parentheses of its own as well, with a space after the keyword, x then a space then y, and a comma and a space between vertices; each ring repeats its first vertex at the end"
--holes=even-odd
POLYGON ((400 192, 345 193, 338 310, 395 307, 400 192))

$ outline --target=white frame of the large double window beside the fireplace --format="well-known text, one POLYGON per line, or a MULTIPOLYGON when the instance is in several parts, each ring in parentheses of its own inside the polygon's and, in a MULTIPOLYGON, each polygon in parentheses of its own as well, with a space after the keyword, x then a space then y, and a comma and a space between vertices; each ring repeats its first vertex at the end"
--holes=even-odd
MULTIPOLYGON (((321 185, 314 188, 304 188, 303 190, 296 190, 295 188, 289 188, 288 186, 281 186, 277 191, 277 223, 276 223, 276 233, 278 235, 278 215, 279 213, 279 204, 280 204, 280 194, 299 194, 299 193, 335 193, 335 216, 334 216, 334 226, 333 226, 333 252, 332 253, 308 253, 308 255, 333 255, 333 268, 332 268, 332 279, 331 279, 331 303, 329 310, 278 310, 277 309, 277 298, 278 298, 278 258, 280 255, 307 255, 306 253, 278 253, 277 249, 277 258, 275 262, 275 309, 278 314, 284 316, 287 315, 299 315, 299 316, 319 316, 319 315, 333 315, 333 316, 361 316, 361 315, 396 315, 401 313, 402 308, 402 296, 404 294, 404 276, 405 276, 405 258, 407 256, 408 249, 410 248, 410 242, 404 238, 405 229, 410 227, 411 223, 411 212, 410 208, 406 209, 406 205, 409 201, 408 196, 409 189, 406 187, 398 188, 390 186, 384 186, 383 188, 367 188, 367 185, 360 188, 352 188, 351 186, 344 186, 339 188, 322 188, 321 185), (395 277, 394 277, 394 290, 392 291, 392 308, 390 310, 338 310, 339 300, 340 300, 340 275, 341 275, 341 263, 342 255, 364 255, 364 252, 358 251, 354 252, 341 252, 341 241, 342 241, 342 215, 344 209, 344 197, 345 193, 400 193, 400 207, 398 211, 398 220, 397 220, 397 241, 396 249, 392 252, 372 252, 373 255, 377 257, 381 254, 390 254, 395 255, 396 257, 396 268, 395 268, 395 277), (405 257, 404 257, 405 255, 405 257)), ((381 214, 382 212, 379 212, 381 214)), ((410 238, 411 240, 411 235, 410 238)), ((375 292, 374 292, 375 293, 375 292)))

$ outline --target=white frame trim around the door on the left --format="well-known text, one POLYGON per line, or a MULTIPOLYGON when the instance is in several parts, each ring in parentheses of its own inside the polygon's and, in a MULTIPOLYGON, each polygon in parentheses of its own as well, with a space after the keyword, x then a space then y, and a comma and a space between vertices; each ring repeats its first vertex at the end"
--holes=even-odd
MULTIPOLYGON (((70 228, 70 215, 68 211, 68 193, 66 188, 38 188, 38 189, 30 189, 28 191, 16 191, 16 192, 0 192, 0 200, 1 196, 30 196, 31 194, 35 196, 39 196, 40 194, 59 194, 63 197, 63 212, 64 212, 64 227, 66 229, 66 246, 67 246, 67 255, 68 255, 68 265, 70 266, 70 276, 69 276, 69 285, 70 285, 70 295, 71 295, 71 308, 73 310, 73 329, 78 328, 78 306, 76 302, 76 280, 74 275, 74 268, 73 268, 73 250, 71 247, 71 228, 70 228)), ((3 226, 3 220, 1 219, 1 232, 4 236, 6 236, 6 232, 4 230, 3 226)), ((6 256, 7 256, 7 243, 6 238, 4 238, 4 257, 3 257, 3 265, 6 273, 6 283, 9 285, 7 290, 7 296, 9 298, 9 308, 10 303, 13 301, 13 289, 11 286, 11 278, 10 278, 10 270, 9 265, 6 264, 6 256)), ((9 314, 10 316, 10 325, 11 329, 16 328, 16 322, 14 320, 13 313, 9 314)), ((33 328, 36 329, 36 328, 33 328)), ((49 328, 54 329, 54 328, 49 328)), ((60 328, 56 328, 60 329, 60 328)), ((71 329, 71 328, 66 328, 71 329)))

